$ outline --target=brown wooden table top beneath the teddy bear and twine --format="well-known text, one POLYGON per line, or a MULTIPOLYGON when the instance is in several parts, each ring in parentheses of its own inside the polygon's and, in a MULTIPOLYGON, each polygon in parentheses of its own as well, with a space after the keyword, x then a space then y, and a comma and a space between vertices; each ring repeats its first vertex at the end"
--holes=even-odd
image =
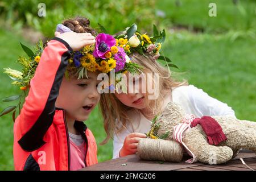
POLYGON ((242 164, 243 158, 247 166, 256 170, 256 155, 252 151, 242 150, 240 154, 228 163, 209 165, 203 163, 185 163, 185 159, 180 163, 155 162, 141 160, 137 155, 128 155, 123 158, 113 159, 106 162, 94 164, 83 168, 82 171, 251 171, 242 164))

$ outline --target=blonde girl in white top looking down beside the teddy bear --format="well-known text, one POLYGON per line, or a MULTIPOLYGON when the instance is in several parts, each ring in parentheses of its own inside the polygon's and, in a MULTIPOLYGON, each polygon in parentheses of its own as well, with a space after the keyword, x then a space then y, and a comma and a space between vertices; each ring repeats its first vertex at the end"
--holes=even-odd
MULTIPOLYGON (((129 57, 134 63, 142 65, 143 75, 147 75, 147 73, 159 75, 159 80, 155 81, 158 84, 153 84, 156 91, 159 92, 159 97, 150 100, 148 89, 146 93, 142 92, 144 88, 148 88, 148 85, 145 84, 147 81, 143 82, 136 78, 135 81, 130 80, 133 85, 127 84, 127 88, 129 86, 136 88, 136 85, 139 84, 135 92, 102 94, 100 105, 107 134, 102 143, 113 138, 113 158, 135 154, 139 140, 146 138, 145 133, 150 131, 151 120, 155 115, 161 113, 170 101, 180 104, 185 112, 192 113, 196 117, 203 115, 232 115, 235 117, 234 111, 228 105, 208 96, 203 90, 188 85, 187 81, 177 81, 172 78, 170 70, 156 61, 159 57, 159 43, 151 41, 146 34, 136 33, 134 36, 135 38, 129 39, 129 42, 132 40, 130 46, 137 46, 138 49, 133 47, 129 57), (139 42, 134 45, 134 40, 139 40, 139 42), (145 48, 143 49, 143 47, 145 48), (156 51, 152 51, 152 47, 156 48, 156 51), (144 52, 142 53, 140 49, 143 49, 144 52), (148 51, 149 49, 151 50, 148 51)), ((127 73, 126 76, 127 82, 129 79, 134 79, 127 73)), ((145 80, 148 78, 152 79, 144 77, 145 80)))

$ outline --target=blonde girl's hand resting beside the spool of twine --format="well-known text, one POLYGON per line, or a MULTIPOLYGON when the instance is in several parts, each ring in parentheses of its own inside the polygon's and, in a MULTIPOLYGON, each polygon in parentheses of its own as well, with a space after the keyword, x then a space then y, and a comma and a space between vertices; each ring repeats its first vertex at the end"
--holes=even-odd
POLYGON ((146 137, 147 136, 143 133, 131 133, 127 135, 127 137, 125 138, 125 142, 123 142, 123 147, 119 152, 119 156, 122 157, 135 154, 137 152, 139 140, 146 137))

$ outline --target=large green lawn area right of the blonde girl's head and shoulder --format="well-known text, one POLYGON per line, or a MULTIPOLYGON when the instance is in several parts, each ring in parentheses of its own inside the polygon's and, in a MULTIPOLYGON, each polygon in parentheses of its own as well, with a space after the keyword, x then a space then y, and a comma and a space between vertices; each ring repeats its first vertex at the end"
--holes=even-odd
POLYGON ((256 121, 255 39, 188 32, 167 37, 164 52, 190 84, 232 106, 237 118, 256 121))

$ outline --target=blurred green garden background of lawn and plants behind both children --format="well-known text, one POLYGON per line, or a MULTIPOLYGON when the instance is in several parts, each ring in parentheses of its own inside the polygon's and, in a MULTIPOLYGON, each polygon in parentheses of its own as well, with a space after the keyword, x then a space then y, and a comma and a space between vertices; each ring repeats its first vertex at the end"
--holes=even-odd
MULTIPOLYGON (((52 38, 56 24, 73 16, 89 18, 92 27, 101 23, 111 34, 133 23, 139 31, 152 34, 152 24, 165 28, 164 54, 183 72, 190 84, 226 102, 237 118, 256 121, 256 9, 255 0, 124 0, 124 1, 36 1, 0 2, 0 98, 14 95, 3 68, 19 69, 16 60, 25 56, 19 42, 32 47, 52 38), (38 4, 45 3, 46 16, 38 16, 38 4), (216 3, 217 16, 210 17, 209 3, 216 3)), ((0 102, 0 111, 9 106, 0 102)), ((15 103, 14 103, 15 104, 15 103)), ((112 141, 104 146, 102 117, 98 108, 86 125, 98 144, 98 160, 112 158, 112 141)), ((0 117, 0 170, 13 170, 13 120, 0 117)))

